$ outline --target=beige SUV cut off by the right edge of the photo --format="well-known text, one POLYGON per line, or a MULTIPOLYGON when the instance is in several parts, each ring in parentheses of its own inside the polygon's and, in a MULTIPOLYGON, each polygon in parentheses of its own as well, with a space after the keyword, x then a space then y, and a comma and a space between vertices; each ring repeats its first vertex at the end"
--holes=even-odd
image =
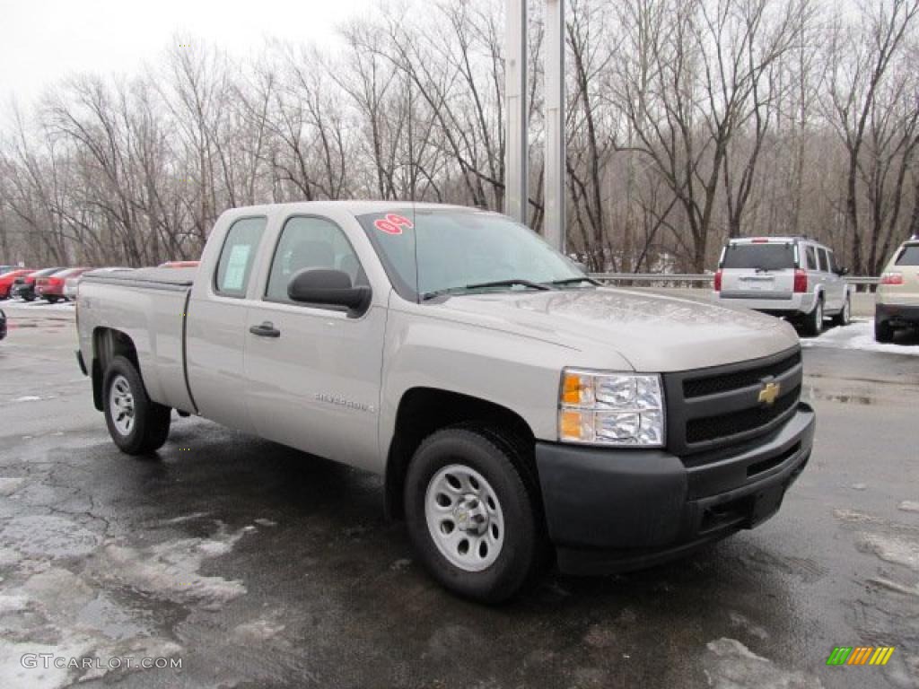
POLYGON ((892 342, 899 328, 919 326, 919 237, 902 243, 880 276, 874 338, 892 342))

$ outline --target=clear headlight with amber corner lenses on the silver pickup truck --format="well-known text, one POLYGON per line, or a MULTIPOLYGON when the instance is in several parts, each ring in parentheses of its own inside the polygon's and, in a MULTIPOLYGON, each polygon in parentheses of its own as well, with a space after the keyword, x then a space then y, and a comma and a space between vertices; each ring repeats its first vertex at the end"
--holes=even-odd
POLYGON ((559 440, 664 446, 664 390, 658 375, 562 370, 559 440))

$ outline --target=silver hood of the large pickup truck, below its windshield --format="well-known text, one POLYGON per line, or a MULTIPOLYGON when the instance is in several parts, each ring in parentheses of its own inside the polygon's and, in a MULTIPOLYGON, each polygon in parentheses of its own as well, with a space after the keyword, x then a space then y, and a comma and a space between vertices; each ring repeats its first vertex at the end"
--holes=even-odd
POLYGON ((720 366, 799 344, 789 323, 772 316, 629 289, 464 295, 435 308, 449 320, 535 337, 585 354, 615 352, 635 370, 647 372, 720 366))

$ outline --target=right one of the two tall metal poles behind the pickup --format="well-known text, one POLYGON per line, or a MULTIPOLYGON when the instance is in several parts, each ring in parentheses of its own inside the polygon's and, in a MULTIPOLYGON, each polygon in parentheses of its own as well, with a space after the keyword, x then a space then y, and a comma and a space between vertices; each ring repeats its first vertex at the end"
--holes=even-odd
POLYGON ((565 0, 546 0, 546 241, 565 253, 565 0))

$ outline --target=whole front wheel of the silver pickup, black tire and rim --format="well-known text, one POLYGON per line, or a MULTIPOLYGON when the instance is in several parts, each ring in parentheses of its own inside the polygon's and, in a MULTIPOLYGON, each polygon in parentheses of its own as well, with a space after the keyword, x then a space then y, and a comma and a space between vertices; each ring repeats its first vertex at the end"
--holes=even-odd
POLYGON ((534 486, 513 442, 453 427, 429 436, 405 481, 409 536, 425 568, 467 598, 499 603, 539 569, 543 550, 534 486))

